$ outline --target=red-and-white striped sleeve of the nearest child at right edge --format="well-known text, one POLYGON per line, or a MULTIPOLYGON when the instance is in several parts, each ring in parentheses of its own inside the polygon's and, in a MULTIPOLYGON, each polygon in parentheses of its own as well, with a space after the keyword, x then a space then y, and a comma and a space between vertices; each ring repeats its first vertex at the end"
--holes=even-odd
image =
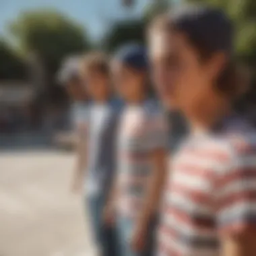
POLYGON ((256 148, 246 146, 218 179, 217 224, 222 234, 256 232, 256 148))

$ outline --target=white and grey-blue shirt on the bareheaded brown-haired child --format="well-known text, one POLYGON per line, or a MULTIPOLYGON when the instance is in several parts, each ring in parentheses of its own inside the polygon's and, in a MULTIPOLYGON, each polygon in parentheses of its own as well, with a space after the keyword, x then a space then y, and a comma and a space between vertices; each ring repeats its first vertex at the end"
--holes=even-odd
POLYGON ((104 104, 92 102, 88 119, 88 161, 86 192, 104 195, 112 184, 116 169, 117 126, 121 106, 116 100, 104 104))

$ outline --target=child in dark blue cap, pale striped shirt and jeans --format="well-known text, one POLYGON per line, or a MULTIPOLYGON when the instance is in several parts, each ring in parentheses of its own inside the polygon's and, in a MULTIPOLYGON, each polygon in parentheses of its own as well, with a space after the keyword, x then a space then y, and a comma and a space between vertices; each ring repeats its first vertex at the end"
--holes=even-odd
POLYGON ((118 138, 115 185, 104 212, 117 224, 120 255, 152 255, 158 201, 166 166, 166 123, 149 98, 146 50, 129 44, 115 55, 113 79, 125 101, 118 138))

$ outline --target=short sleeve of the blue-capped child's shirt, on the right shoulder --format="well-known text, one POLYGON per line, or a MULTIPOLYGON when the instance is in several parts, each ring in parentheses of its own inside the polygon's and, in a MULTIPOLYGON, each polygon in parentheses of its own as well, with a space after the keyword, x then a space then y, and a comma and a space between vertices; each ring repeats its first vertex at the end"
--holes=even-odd
POLYGON ((168 148, 168 122, 163 113, 154 113, 146 125, 146 145, 148 150, 168 148))

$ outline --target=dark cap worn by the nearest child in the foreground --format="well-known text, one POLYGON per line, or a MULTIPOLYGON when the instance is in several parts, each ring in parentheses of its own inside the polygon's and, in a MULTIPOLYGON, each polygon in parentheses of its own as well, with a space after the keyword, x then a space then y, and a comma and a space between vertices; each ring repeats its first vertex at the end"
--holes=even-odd
POLYGON ((221 9, 205 5, 185 5, 174 8, 168 15, 175 29, 185 32, 210 51, 233 52, 234 29, 221 9))

